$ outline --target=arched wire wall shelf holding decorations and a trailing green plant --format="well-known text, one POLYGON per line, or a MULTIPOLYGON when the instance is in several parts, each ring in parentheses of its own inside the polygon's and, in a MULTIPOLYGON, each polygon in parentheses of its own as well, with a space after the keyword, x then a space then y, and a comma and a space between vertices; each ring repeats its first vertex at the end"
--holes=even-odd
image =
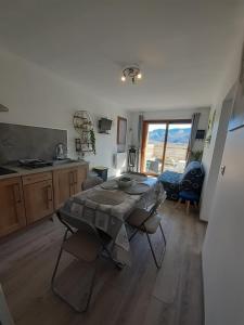
POLYGON ((95 155, 95 135, 91 115, 87 110, 77 110, 73 117, 73 125, 80 138, 75 139, 76 152, 85 156, 85 153, 95 155))

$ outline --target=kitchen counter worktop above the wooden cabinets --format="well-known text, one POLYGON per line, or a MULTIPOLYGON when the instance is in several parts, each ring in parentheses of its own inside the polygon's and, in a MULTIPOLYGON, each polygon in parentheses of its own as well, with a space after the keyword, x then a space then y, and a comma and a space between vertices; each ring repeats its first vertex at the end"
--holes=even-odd
POLYGON ((78 166, 88 165, 88 164, 89 164, 88 161, 74 160, 70 162, 57 164, 57 165, 47 166, 47 167, 41 167, 41 168, 24 168, 21 166, 4 165, 2 167, 13 170, 14 172, 0 176, 0 180, 15 178, 15 177, 22 177, 22 176, 28 176, 28 174, 39 173, 39 172, 46 172, 46 171, 53 171, 53 170, 64 169, 64 168, 73 168, 73 167, 78 167, 78 166))

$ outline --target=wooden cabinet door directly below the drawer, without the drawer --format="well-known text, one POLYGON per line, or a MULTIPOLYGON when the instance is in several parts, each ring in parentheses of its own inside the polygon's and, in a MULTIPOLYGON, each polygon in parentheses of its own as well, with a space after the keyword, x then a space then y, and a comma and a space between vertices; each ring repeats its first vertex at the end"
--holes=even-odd
POLYGON ((53 212, 52 180, 24 186, 27 224, 53 212))

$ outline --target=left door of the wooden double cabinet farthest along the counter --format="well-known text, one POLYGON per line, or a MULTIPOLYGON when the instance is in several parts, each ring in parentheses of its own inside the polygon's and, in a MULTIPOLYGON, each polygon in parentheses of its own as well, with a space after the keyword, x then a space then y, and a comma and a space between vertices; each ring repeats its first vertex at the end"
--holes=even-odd
POLYGON ((61 205, 68 199, 74 190, 74 169, 64 168, 53 172, 53 186, 54 186, 54 207, 59 209, 61 205))

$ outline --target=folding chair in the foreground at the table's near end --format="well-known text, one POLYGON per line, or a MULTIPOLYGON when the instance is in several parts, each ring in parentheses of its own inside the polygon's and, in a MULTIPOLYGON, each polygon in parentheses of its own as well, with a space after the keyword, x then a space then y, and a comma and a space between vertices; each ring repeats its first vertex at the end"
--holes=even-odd
POLYGON ((89 307, 92 295, 98 258, 102 257, 102 252, 105 251, 106 256, 110 257, 111 260, 113 260, 111 251, 107 249, 110 238, 102 238, 102 236, 93 225, 86 223, 82 220, 74 219, 72 216, 66 213, 66 211, 62 211, 62 209, 57 211, 56 214, 60 221, 65 225, 66 231, 54 266, 51 280, 51 288, 56 296, 59 296, 62 300, 69 304, 74 310, 76 310, 77 312, 85 312, 89 307), (73 227, 78 231, 74 231, 73 227), (93 274, 89 286, 87 302, 84 309, 80 309, 79 307, 69 302, 68 299, 64 295, 62 295, 55 286, 55 277, 63 251, 70 253, 73 257, 84 261, 85 263, 89 263, 89 265, 93 268, 93 274))

